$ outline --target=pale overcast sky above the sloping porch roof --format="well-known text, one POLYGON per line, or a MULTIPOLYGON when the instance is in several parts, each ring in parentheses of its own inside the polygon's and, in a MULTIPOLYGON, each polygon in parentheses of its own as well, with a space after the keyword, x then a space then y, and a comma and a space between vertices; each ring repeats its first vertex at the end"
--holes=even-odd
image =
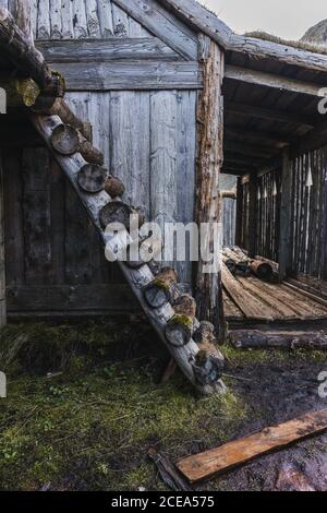
POLYGON ((258 28, 287 39, 300 39, 306 29, 327 19, 326 0, 201 0, 234 32, 258 28))

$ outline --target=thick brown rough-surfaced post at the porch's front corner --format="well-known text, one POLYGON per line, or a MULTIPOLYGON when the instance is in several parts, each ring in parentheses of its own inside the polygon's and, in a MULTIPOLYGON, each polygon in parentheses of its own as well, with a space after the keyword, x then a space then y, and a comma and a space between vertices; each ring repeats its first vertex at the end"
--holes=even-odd
MULTIPOLYGON (((223 160, 223 52, 218 45, 203 39, 204 90, 198 100, 198 158, 197 158, 197 207, 196 220, 202 224, 216 224, 220 220, 219 174, 223 160)), ((213 231, 213 230, 210 230, 213 231)), ((213 248, 213 235, 201 240, 202 248, 213 248)), ((198 318, 210 321, 223 337, 223 313, 221 273, 206 274, 205 262, 197 266, 196 301, 198 318)))

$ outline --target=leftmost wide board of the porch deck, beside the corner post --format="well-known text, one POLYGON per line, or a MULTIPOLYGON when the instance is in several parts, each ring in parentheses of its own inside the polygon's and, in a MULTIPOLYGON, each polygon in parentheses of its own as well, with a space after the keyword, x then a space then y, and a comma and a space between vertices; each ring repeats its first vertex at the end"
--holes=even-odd
POLYGON ((225 289, 247 319, 274 321, 275 312, 272 309, 262 303, 256 297, 245 290, 229 272, 223 262, 221 262, 221 270, 225 289))

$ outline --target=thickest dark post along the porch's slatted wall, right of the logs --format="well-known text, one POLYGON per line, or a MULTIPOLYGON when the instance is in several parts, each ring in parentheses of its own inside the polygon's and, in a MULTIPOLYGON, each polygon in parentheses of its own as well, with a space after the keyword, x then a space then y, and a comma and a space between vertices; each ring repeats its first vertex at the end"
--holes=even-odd
POLYGON ((280 202, 280 236, 279 236, 279 279, 282 282, 289 272, 291 254, 291 189, 292 163, 290 150, 282 153, 281 202, 280 202))

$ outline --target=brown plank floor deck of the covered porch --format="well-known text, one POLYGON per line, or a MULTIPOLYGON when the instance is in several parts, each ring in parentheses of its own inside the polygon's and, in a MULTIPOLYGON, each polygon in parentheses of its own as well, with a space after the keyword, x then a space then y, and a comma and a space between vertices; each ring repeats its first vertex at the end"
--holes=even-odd
POLYGON ((292 283, 270 284, 223 273, 225 314, 229 325, 305 324, 327 327, 327 300, 292 283))

